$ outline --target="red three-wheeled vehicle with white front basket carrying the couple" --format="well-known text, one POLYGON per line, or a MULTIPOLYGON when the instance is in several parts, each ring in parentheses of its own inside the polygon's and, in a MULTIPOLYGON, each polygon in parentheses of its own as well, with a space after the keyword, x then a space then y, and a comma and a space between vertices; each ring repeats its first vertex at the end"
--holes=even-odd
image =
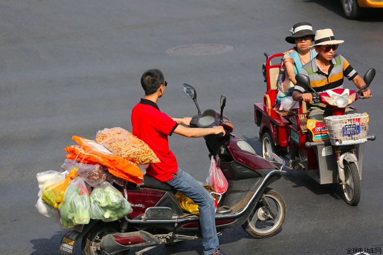
POLYGON ((357 205, 361 196, 364 143, 376 137, 367 135, 368 115, 345 114, 345 109, 363 98, 361 91, 369 86, 375 70, 366 72, 367 86, 359 91, 336 89, 322 93, 313 90, 309 77, 297 74, 297 82, 312 92, 313 100, 327 105, 325 121, 313 121, 307 119, 306 102, 300 102, 299 108, 290 111, 273 109, 282 54, 265 56, 262 73, 267 89, 263 103, 254 104, 262 156, 270 159, 270 155, 277 154, 289 162, 289 169, 303 170, 319 184, 340 183, 345 201, 357 205))

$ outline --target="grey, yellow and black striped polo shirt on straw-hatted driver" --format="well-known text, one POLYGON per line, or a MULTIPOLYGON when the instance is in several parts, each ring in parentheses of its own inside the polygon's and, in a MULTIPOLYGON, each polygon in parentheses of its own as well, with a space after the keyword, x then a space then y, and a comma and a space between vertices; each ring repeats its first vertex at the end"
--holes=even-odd
MULTIPOLYGON (((317 92, 343 88, 343 76, 352 80, 358 73, 342 55, 334 55, 330 62, 329 74, 323 73, 316 65, 316 57, 303 66, 300 73, 309 76, 310 85, 317 92)), ((294 91, 304 93, 306 88, 296 83, 294 91)))

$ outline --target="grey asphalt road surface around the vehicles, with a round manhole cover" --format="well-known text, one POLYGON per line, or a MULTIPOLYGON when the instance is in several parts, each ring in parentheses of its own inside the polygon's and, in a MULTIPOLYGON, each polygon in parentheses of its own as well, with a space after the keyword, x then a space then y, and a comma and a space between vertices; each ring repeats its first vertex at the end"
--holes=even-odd
MULTIPOLYGON (((72 135, 94 139, 105 127, 130 130, 131 109, 143 96, 139 79, 147 69, 164 73, 168 86, 158 105, 172 117, 197 112, 183 83, 196 88, 201 109, 218 109, 220 95, 226 95, 234 133, 259 153, 253 104, 265 91, 263 53, 287 50, 291 45, 284 38, 299 21, 311 22, 314 30, 332 28, 345 40, 337 52, 360 74, 377 70, 373 97, 353 104, 369 113, 369 133, 377 135, 365 146, 361 201, 348 206, 340 185, 319 185, 291 170, 273 184, 287 204, 282 231, 253 239, 241 227, 227 229, 220 246, 228 255, 380 254, 379 17, 382 11, 374 10, 362 21, 345 19, 331 0, 0 0, 0 254, 57 254, 66 231, 38 214, 36 174, 60 170, 72 135)), ((170 144, 180 167, 204 181, 209 169, 204 140, 173 135, 170 144)), ((202 244, 162 245, 146 254, 197 255, 202 244)))

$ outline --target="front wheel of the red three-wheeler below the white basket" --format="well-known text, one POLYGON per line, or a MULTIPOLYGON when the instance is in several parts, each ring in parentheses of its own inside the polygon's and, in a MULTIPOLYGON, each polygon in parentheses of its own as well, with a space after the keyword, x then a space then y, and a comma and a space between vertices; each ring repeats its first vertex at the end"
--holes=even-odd
POLYGON ((345 164, 346 184, 343 184, 343 193, 349 205, 357 205, 360 200, 361 186, 358 168, 354 162, 345 164))

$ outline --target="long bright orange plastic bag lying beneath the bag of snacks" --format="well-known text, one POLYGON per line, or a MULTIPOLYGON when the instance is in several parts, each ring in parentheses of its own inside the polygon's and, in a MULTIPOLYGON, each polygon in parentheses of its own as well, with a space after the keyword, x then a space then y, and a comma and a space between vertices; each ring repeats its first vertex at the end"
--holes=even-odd
POLYGON ((73 136, 72 139, 76 141, 79 146, 68 146, 64 148, 65 151, 70 153, 70 155, 67 155, 67 159, 75 159, 86 164, 100 163, 105 165, 111 174, 123 180, 137 184, 142 183, 143 175, 137 164, 114 155, 104 146, 92 140, 79 136, 73 136))

